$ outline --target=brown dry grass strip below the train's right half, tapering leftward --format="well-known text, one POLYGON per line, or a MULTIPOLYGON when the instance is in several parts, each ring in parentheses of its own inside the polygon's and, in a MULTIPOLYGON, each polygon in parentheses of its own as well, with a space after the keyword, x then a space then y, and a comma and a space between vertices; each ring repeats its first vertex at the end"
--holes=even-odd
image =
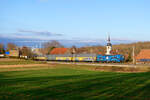
POLYGON ((138 67, 118 67, 118 66, 94 66, 94 65, 75 65, 75 64, 57 64, 59 66, 64 66, 73 69, 91 70, 91 71, 102 71, 102 72, 121 72, 121 73, 139 73, 139 72, 149 72, 150 67, 148 66, 138 66, 138 67))

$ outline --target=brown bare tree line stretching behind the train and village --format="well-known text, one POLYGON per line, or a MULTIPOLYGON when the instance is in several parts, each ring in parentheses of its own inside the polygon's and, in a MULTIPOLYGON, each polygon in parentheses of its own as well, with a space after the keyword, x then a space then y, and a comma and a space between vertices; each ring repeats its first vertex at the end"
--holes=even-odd
MULTIPOLYGON (((150 49, 150 42, 137 42, 131 44, 119 44, 113 45, 112 54, 122 54, 125 56, 126 61, 132 61, 132 47, 135 47, 135 56, 139 54, 141 49, 150 49)), ((50 41, 43 44, 43 48, 40 48, 40 52, 44 55, 50 54, 50 51, 54 48, 64 48, 64 46, 58 41, 50 41)), ((0 54, 4 54, 7 51, 18 49, 21 55, 32 56, 34 53, 32 49, 26 46, 22 48, 17 47, 13 43, 8 43, 7 48, 4 48, 4 45, 0 43, 0 54)), ((84 46, 77 48, 76 46, 72 46, 69 48, 70 53, 88 53, 88 54, 102 54, 104 55, 106 52, 105 46, 84 46)))

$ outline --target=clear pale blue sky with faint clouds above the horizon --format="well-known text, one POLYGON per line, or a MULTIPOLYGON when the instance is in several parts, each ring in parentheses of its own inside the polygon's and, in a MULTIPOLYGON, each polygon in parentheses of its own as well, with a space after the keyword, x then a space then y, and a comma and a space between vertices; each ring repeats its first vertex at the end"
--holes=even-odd
POLYGON ((0 36, 150 40, 150 0, 0 0, 0 36))

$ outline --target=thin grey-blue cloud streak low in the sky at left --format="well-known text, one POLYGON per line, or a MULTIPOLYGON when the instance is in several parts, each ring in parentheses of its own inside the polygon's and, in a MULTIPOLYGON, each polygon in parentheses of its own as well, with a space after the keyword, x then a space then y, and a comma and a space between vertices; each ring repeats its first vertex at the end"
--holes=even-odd
POLYGON ((19 33, 32 33, 41 36, 62 36, 63 34, 53 33, 49 31, 33 31, 33 30, 18 30, 19 33))

